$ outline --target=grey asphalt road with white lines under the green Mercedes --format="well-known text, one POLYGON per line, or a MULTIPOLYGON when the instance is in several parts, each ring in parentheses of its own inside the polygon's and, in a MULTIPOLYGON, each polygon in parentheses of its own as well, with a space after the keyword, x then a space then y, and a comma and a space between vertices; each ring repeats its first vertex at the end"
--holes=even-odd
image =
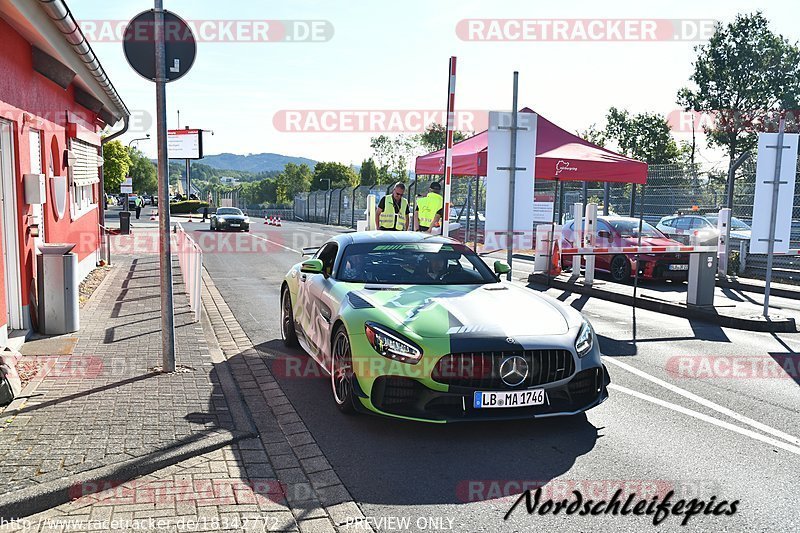
MULTIPOLYGON (((739 502, 732 516, 701 514, 685 527, 682 517, 668 516, 657 527, 662 531, 800 530, 792 496, 800 493, 800 380, 783 371, 752 373, 787 356, 796 365, 800 334, 726 329, 551 290, 582 310, 600 336, 612 379, 601 406, 569 419, 448 426, 347 417, 321 373, 295 377, 280 372, 285 365, 274 368, 281 358, 304 357, 280 341, 281 280, 299 250, 340 230, 284 223, 216 234, 206 225, 184 226, 206 249, 204 264, 221 294, 270 354, 298 414, 379 530, 656 529, 652 516, 529 515, 524 505, 506 521, 523 483, 547 483, 542 503, 572 490, 609 499, 620 487, 648 501, 674 490, 673 499, 739 502)), ((796 301, 772 301, 784 314, 800 314, 796 301)))

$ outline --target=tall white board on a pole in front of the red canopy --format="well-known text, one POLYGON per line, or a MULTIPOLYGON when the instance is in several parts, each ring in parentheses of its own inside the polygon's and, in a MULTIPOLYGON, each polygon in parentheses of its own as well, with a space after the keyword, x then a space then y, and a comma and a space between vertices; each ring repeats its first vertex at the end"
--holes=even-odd
MULTIPOLYGON (((517 113, 517 170, 514 183, 513 248, 532 249, 533 243, 533 170, 536 151, 535 113, 517 113)), ((486 232, 485 250, 508 249, 508 193, 511 173, 498 167, 510 167, 511 113, 489 112, 489 146, 486 163, 486 232)))

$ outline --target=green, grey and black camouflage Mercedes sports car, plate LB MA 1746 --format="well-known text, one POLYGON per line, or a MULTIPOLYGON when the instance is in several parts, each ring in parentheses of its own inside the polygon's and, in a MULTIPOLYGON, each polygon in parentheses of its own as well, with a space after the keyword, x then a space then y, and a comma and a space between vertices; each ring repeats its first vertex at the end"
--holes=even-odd
POLYGON ((411 232, 338 235, 289 271, 284 342, 331 376, 336 405, 427 422, 572 415, 608 397, 592 326, 500 281, 472 250, 411 232))

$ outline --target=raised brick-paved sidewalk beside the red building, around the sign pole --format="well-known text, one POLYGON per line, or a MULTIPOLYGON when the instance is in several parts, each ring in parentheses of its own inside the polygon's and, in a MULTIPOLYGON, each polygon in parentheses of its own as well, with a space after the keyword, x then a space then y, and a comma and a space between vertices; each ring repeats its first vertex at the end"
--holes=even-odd
POLYGON ((115 257, 69 335, 74 353, 45 357, 46 375, 2 413, 0 494, 234 429, 177 264, 174 275, 185 371, 152 371, 161 364, 158 256, 115 257))

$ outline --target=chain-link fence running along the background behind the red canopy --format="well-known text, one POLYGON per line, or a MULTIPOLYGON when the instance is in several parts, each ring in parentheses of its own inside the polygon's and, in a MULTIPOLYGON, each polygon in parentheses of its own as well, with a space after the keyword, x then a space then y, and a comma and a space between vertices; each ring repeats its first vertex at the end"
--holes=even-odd
MULTIPOLYGON (((725 165, 723 165, 725 166, 725 165)), ((726 203, 727 166, 722 172, 699 172, 685 165, 650 165, 647 185, 633 192, 630 184, 563 182, 558 184, 559 195, 554 206, 556 221, 572 218, 572 206, 576 202, 595 202, 599 213, 639 216, 653 224, 662 217, 678 211, 691 211, 695 206, 701 213, 719 210, 726 203), (643 197, 642 197, 643 194, 643 197), (606 211, 606 198, 608 210, 606 211)), ((800 167, 795 184, 794 209, 792 212, 791 248, 800 248, 800 167)), ((745 223, 753 218, 753 203, 756 185, 756 162, 751 159, 742 165, 736 174, 734 187, 733 216, 745 223)), ((419 176, 406 186, 406 198, 412 212, 417 197, 425 196, 432 181, 429 176, 419 176)), ((366 220, 367 196, 374 194, 376 202, 388 193, 391 185, 356 187, 314 191, 295 197, 296 220, 332 224, 355 228, 359 220, 366 220)), ((555 196, 556 183, 537 180, 536 194, 555 196)), ((457 177, 451 189, 451 220, 460 224, 455 236, 463 241, 483 240, 486 210, 486 178, 457 177), (469 220, 469 224, 467 224, 469 220)))

